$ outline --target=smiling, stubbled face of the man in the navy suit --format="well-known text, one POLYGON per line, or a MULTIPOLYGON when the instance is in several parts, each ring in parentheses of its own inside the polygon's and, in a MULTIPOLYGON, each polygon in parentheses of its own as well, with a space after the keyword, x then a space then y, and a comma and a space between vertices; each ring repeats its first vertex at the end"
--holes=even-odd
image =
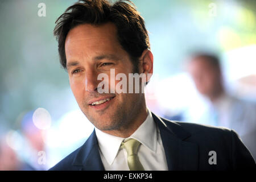
MULTIPOLYGON (((100 130, 126 127, 130 115, 139 110, 141 95, 110 93, 110 69, 115 69, 115 75, 125 73, 127 78, 133 73, 133 64, 118 42, 114 24, 81 24, 73 28, 65 40, 65 54, 69 84, 89 121, 100 130), (102 81, 97 80, 100 73, 109 77, 109 94, 98 93, 98 84, 102 81), (104 103, 91 105, 95 101, 104 103)), ((115 81, 114 85, 118 82, 115 81)))

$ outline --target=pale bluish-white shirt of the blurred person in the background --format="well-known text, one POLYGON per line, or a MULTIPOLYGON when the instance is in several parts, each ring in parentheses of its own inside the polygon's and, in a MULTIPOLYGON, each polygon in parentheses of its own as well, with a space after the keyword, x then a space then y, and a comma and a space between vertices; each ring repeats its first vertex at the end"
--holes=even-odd
POLYGON ((256 159, 256 104, 223 94, 214 103, 198 100, 184 121, 223 126, 235 130, 256 159))

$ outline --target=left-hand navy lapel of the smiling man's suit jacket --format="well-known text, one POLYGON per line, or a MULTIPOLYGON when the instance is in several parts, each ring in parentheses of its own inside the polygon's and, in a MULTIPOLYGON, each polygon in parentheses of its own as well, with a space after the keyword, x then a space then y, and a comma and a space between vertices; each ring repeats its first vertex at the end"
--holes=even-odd
POLYGON ((73 160, 73 166, 78 167, 78 170, 86 171, 103 171, 104 166, 101 161, 100 152, 98 151, 98 142, 95 130, 82 145, 76 158, 73 160))

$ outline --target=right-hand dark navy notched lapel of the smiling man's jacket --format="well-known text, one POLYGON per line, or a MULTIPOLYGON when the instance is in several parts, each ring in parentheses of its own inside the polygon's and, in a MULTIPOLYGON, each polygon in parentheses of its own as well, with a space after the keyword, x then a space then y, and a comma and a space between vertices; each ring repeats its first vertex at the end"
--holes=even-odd
POLYGON ((197 170, 199 146, 185 142, 191 137, 186 130, 175 122, 161 119, 152 113, 154 121, 159 127, 169 170, 197 170))

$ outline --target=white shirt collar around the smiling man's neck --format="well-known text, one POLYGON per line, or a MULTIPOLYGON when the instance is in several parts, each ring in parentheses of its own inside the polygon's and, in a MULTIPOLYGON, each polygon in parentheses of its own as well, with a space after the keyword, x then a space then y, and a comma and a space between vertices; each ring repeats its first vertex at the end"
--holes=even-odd
MULTIPOLYGON (((106 161, 109 163, 109 165, 111 165, 114 162, 115 156, 117 156, 119 151, 119 147, 125 138, 104 133, 103 131, 98 130, 96 127, 95 132, 98 139, 98 146, 100 147, 106 161)), ((148 149, 156 152, 156 125, 149 109, 147 109, 146 120, 129 138, 137 139, 148 149)))

